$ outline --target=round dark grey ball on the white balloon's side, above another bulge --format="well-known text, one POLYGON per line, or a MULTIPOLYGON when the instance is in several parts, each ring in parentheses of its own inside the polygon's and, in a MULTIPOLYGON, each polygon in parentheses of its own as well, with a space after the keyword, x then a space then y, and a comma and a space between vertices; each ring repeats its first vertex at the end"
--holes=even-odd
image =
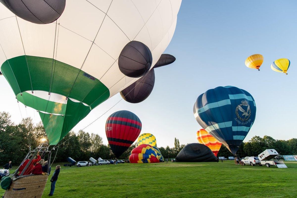
POLYGON ((128 77, 142 77, 149 71, 152 62, 149 47, 139 41, 130 41, 119 56, 119 69, 128 77))

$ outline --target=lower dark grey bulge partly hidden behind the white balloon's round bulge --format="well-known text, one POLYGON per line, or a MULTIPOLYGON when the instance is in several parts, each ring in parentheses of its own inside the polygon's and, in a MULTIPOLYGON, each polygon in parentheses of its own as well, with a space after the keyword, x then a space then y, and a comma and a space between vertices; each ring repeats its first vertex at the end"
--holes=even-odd
POLYGON ((144 101, 151 91, 153 91, 155 84, 155 71, 151 69, 148 74, 141 77, 129 87, 120 92, 122 98, 130 103, 139 103, 144 101))

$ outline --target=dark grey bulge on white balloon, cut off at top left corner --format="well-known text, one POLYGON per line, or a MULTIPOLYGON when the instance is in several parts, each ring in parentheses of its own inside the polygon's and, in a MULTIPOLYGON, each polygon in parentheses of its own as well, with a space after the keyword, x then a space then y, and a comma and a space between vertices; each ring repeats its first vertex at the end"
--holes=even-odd
POLYGON ((66 0, 0 0, 0 2, 24 20, 47 24, 61 16, 66 0))

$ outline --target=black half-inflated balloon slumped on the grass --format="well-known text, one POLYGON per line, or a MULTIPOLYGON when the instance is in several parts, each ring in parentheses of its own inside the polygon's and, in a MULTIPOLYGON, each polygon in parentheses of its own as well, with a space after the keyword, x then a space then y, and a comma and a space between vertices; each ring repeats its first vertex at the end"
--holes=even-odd
POLYGON ((177 162, 211 162, 217 161, 214 153, 204 144, 186 145, 176 156, 177 162))

